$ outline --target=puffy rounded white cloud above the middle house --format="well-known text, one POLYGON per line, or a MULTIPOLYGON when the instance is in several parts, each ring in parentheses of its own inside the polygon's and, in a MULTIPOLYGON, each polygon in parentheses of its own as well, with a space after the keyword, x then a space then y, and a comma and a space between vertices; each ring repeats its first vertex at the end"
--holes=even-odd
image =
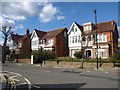
POLYGON ((41 22, 50 22, 52 19, 55 18, 55 15, 59 13, 59 10, 54 7, 52 4, 46 4, 43 9, 42 12, 40 13, 39 17, 41 22))

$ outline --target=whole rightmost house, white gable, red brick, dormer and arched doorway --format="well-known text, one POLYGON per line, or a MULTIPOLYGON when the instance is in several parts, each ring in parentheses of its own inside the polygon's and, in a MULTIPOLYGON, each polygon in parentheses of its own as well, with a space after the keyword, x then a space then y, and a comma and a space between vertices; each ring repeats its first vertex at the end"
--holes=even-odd
POLYGON ((96 58, 96 30, 98 57, 109 58, 116 53, 118 30, 114 20, 98 23, 96 28, 92 22, 84 23, 83 26, 73 22, 68 31, 69 56, 74 57, 75 52, 85 49, 86 58, 96 58))

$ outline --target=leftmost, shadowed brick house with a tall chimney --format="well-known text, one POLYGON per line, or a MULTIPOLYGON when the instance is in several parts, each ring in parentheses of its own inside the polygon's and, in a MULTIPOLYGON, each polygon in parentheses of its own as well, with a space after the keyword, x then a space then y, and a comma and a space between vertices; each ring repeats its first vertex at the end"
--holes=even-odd
POLYGON ((15 53, 16 49, 19 49, 23 54, 30 54, 31 52, 31 34, 29 29, 26 30, 25 35, 11 34, 9 38, 9 49, 12 53, 15 53))

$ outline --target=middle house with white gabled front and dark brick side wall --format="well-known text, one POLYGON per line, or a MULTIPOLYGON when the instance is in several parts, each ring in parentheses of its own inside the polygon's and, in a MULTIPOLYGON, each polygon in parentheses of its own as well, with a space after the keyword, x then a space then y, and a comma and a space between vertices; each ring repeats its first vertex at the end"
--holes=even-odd
POLYGON ((54 51, 56 57, 68 55, 67 28, 61 28, 44 32, 34 30, 31 35, 32 51, 42 49, 42 51, 54 51))

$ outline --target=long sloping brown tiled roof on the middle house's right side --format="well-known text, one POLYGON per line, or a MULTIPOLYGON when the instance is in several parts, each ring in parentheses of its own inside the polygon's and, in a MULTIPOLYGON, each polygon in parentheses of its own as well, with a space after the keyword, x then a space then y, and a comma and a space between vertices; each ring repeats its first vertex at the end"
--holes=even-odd
POLYGON ((61 33, 63 30, 67 30, 67 28, 60 28, 57 30, 52 30, 52 31, 48 31, 44 36, 43 39, 48 39, 48 38, 52 38, 54 36, 57 36, 59 33, 61 33))

